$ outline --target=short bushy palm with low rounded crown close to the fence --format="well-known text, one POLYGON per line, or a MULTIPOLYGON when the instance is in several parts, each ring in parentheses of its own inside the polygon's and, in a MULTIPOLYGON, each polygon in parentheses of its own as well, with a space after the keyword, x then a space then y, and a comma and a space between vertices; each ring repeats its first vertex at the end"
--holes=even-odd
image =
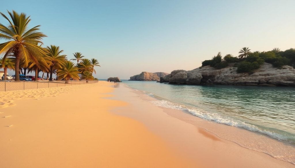
POLYGON ((59 80, 64 79, 66 83, 68 83, 70 79, 79 79, 78 68, 74 66, 74 63, 71 61, 65 61, 63 63, 63 67, 61 69, 58 69, 56 74, 58 75, 59 80))

